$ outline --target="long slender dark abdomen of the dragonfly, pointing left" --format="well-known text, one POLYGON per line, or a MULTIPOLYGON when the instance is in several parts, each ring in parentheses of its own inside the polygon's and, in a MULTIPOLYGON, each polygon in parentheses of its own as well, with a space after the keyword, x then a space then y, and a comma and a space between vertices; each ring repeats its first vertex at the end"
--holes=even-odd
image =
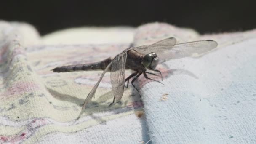
POLYGON ((89 70, 104 70, 107 65, 112 61, 112 58, 109 57, 103 61, 98 61, 91 64, 77 64, 69 66, 56 67, 53 72, 74 72, 74 71, 89 71, 89 70))

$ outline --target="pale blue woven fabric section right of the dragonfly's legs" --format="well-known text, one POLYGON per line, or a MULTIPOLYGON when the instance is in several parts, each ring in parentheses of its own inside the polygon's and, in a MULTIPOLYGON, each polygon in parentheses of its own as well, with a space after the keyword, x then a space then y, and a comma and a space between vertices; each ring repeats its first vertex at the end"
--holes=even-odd
POLYGON ((255 45, 245 40, 198 59, 167 61, 173 71, 165 86, 142 88, 152 143, 256 143, 255 45))

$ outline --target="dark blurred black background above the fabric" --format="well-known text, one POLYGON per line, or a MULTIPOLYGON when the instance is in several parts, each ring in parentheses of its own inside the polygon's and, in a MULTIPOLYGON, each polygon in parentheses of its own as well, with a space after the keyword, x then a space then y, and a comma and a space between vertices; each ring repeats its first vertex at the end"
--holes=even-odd
POLYGON ((256 28, 252 0, 5 0, 0 5, 0 19, 28 22, 42 35, 69 27, 137 27, 155 21, 190 27, 201 34, 256 28))

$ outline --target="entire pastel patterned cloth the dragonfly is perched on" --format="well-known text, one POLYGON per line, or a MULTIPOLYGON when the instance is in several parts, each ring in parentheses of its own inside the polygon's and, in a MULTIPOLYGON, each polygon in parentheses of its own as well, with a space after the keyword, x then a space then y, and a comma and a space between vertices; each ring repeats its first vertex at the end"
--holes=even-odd
POLYGON ((255 35, 255 30, 199 35, 151 23, 137 29, 69 29, 40 37, 29 24, 0 21, 0 142, 255 143, 255 35), (51 69, 99 61, 130 45, 167 37, 176 37, 178 43, 211 39, 219 46, 198 58, 160 64, 165 86, 140 77, 136 85, 142 100, 130 84, 122 103, 108 107, 113 95, 107 73, 75 122, 101 71, 51 69))

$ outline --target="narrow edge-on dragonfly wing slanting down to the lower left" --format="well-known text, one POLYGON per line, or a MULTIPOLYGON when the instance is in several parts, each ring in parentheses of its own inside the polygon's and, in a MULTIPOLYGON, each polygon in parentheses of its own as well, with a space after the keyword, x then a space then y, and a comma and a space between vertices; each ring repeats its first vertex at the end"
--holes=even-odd
POLYGON ((105 73, 106 73, 107 71, 109 71, 111 65, 112 65, 112 62, 106 67, 106 69, 104 70, 104 72, 101 74, 101 77, 99 78, 98 82, 96 83, 96 85, 94 85, 93 89, 90 91, 90 93, 89 93, 88 96, 86 97, 82 109, 84 109, 84 108, 86 107, 86 105, 88 104, 88 102, 91 101, 91 99, 93 98, 93 96, 94 96, 94 94, 95 94, 95 92, 96 92, 96 89, 97 89, 98 86, 99 86, 99 83, 101 82, 101 80, 102 80, 102 78, 104 77, 105 73))

